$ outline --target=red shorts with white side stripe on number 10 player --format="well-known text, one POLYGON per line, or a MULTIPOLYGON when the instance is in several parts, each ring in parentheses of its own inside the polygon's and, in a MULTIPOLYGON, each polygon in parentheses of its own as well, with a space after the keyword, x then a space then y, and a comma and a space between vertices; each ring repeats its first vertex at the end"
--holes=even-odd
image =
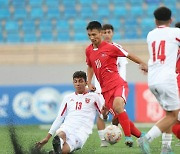
POLYGON ((122 97, 126 102, 128 96, 128 85, 125 83, 123 86, 116 86, 113 89, 102 93, 105 99, 105 106, 108 110, 113 110, 113 101, 115 97, 122 97))

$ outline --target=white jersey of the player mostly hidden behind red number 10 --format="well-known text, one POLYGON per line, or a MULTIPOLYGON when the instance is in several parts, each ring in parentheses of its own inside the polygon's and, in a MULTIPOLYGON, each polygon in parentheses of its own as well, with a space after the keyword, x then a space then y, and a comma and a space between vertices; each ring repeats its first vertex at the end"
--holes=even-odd
MULTIPOLYGON (((122 48, 121 45, 117 44, 117 43, 112 43, 120 48, 122 48)), ((128 63, 126 57, 118 57, 117 58, 117 68, 118 68, 118 72, 119 75, 121 76, 121 78, 123 78, 124 81, 126 81, 126 64, 128 63)), ((95 77, 94 79, 94 85, 96 87, 96 92, 97 93, 101 93, 101 86, 97 80, 97 78, 95 77)))

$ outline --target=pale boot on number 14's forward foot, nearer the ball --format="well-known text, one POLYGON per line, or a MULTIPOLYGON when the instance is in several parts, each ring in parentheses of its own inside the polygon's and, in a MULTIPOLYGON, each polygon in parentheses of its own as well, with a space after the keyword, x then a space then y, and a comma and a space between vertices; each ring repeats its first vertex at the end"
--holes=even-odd
POLYGON ((141 148, 143 154, 150 154, 150 147, 146 137, 140 137, 137 139, 137 144, 141 148))

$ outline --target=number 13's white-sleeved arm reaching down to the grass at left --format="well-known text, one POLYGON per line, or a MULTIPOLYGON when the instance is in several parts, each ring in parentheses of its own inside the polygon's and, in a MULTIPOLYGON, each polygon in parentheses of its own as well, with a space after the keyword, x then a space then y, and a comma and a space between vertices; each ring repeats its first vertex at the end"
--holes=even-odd
POLYGON ((36 143, 37 148, 41 149, 49 141, 51 136, 55 134, 56 130, 60 127, 66 116, 66 111, 67 111, 67 103, 66 103, 66 99, 64 99, 63 102, 61 103, 58 116, 54 120, 48 134, 44 139, 36 143))

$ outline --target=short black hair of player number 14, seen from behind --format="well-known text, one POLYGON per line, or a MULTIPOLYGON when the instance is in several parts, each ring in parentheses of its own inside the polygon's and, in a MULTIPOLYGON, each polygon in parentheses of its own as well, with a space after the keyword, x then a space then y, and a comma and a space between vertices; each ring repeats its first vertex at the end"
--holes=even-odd
POLYGON ((165 6, 159 7, 154 11, 156 20, 168 21, 171 19, 171 10, 165 6))

